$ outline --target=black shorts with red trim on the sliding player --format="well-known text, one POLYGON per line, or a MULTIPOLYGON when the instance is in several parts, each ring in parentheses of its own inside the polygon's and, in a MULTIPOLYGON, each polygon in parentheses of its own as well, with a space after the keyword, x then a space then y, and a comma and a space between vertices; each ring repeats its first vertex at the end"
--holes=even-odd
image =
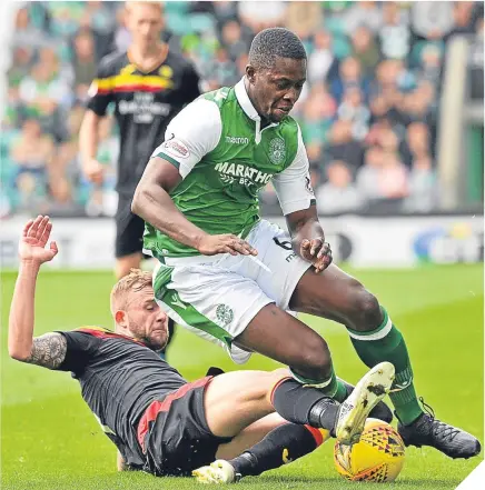
POLYGON ((158 477, 189 477, 216 459, 219 444, 231 440, 214 436, 207 426, 204 391, 211 379, 184 384, 148 407, 138 426, 146 471, 158 477))

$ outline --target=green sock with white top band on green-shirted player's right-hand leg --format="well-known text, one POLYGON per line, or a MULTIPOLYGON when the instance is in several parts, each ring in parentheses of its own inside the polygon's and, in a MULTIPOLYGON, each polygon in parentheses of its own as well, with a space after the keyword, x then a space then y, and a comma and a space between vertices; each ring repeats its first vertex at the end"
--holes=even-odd
POLYGON ((347 330, 358 357, 368 368, 384 361, 394 364, 396 378, 393 390, 396 391, 389 393, 389 398, 396 409, 397 418, 402 423, 408 424, 416 420, 423 410, 413 384, 413 369, 406 342, 399 330, 394 327, 386 310, 383 307, 380 309, 384 320, 375 330, 367 332, 347 330))

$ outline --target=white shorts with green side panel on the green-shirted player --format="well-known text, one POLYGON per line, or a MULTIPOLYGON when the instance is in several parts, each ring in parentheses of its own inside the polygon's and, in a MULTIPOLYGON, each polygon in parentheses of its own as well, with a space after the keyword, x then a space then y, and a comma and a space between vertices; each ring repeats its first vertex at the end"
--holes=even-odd
POLYGON ((225 348, 237 363, 250 352, 232 344, 268 303, 288 311, 301 276, 311 266, 291 249, 289 234, 261 220, 246 238, 271 272, 246 256, 166 258, 154 271, 157 302, 180 326, 225 348))

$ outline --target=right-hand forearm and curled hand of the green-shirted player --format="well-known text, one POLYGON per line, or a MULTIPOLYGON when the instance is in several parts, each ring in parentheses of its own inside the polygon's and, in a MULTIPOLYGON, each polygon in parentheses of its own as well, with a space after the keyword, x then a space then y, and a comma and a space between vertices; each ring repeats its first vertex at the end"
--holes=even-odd
POLYGON ((316 206, 287 214, 286 222, 295 253, 311 262, 316 273, 324 271, 333 258, 330 246, 325 241, 325 232, 318 221, 316 206))

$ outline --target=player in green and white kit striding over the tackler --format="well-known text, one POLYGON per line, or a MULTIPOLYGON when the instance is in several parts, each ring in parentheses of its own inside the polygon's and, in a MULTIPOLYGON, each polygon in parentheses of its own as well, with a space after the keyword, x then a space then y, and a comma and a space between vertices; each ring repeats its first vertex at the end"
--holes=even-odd
POLYGON ((301 132, 289 116, 306 67, 297 36, 266 29, 253 41, 242 80, 201 96, 167 128, 132 203, 147 222, 145 250, 159 260, 157 300, 236 362, 259 352, 343 401, 348 387, 327 343, 294 312, 337 321, 367 367, 394 364, 389 396, 407 446, 475 456, 473 436, 423 410, 406 343, 386 309, 331 263, 301 132), (289 233, 259 217, 258 191, 270 181, 289 233))

